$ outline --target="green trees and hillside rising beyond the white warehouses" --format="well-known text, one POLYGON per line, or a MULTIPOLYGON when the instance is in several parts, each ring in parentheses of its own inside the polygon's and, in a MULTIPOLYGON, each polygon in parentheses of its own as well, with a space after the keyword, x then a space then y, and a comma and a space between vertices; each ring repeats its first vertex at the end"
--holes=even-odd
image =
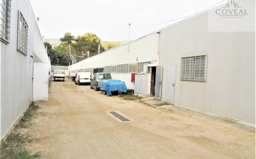
POLYGON ((95 56, 103 53, 107 49, 114 48, 122 45, 124 42, 117 41, 100 41, 98 36, 93 33, 85 33, 84 35, 78 35, 77 37, 71 35, 71 33, 65 33, 65 35, 58 39, 45 40, 45 46, 47 46, 47 54, 50 56, 52 65, 68 66, 75 64, 83 59, 95 56))

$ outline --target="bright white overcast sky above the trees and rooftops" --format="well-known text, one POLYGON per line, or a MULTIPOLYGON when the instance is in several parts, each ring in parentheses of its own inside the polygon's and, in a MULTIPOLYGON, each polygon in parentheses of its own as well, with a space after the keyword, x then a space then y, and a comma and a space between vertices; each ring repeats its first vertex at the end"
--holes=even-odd
POLYGON ((45 38, 60 38, 65 32, 96 33, 104 41, 139 38, 170 24, 166 22, 202 11, 221 0, 30 0, 45 38), (134 24, 134 25, 133 25, 134 24))

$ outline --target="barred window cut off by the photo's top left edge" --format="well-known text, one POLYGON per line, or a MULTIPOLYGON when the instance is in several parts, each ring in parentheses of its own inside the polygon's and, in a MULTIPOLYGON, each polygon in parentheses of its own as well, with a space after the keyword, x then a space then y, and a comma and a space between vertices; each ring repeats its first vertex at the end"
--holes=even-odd
POLYGON ((10 40, 11 0, 0 0, 0 39, 5 43, 10 40))

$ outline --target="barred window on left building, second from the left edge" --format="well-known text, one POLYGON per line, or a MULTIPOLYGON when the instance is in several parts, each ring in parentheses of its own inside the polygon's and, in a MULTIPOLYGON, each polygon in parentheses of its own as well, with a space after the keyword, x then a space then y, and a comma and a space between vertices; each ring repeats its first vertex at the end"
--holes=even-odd
POLYGON ((27 22, 25 22, 23 15, 19 12, 17 51, 25 55, 27 55, 28 28, 27 22))

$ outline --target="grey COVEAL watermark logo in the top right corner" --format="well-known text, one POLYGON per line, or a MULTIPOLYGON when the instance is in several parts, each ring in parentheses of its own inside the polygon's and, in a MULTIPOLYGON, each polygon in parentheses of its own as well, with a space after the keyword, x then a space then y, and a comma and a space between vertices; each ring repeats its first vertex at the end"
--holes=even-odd
POLYGON ((244 7, 239 6, 235 0, 227 0, 227 4, 220 9, 216 9, 215 13, 221 18, 227 19, 243 18, 248 15, 247 10, 244 7))

